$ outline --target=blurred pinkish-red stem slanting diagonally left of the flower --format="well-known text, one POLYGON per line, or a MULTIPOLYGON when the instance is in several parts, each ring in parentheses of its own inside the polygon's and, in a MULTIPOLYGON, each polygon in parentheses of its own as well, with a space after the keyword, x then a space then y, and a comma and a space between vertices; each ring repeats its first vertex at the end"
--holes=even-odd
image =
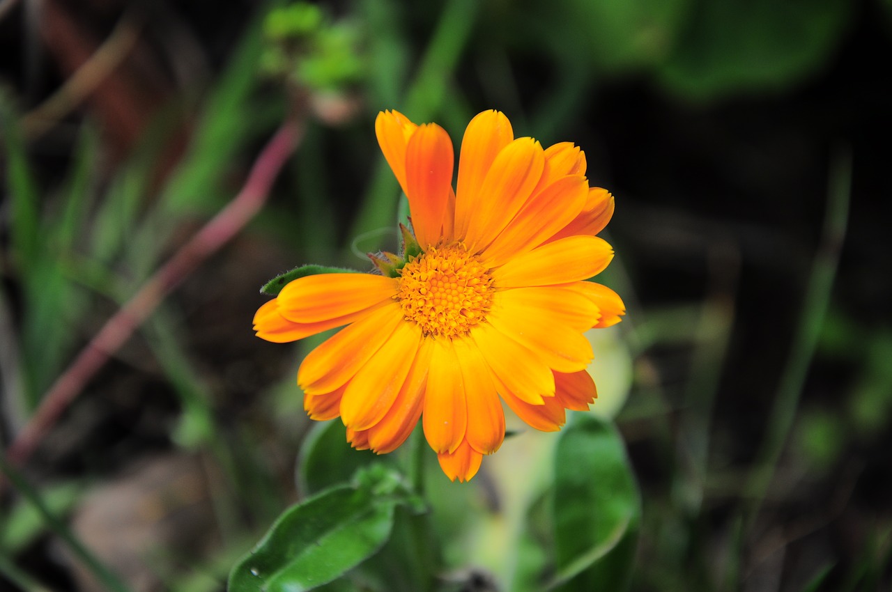
POLYGON ((269 189, 279 170, 300 143, 302 132, 302 122, 286 120, 254 161, 238 195, 158 269, 81 350, 71 366, 46 392, 37 412, 12 441, 6 452, 12 465, 21 466, 27 462, 62 411, 83 391, 87 381, 111 354, 128 341, 161 300, 254 217, 267 201, 269 189))

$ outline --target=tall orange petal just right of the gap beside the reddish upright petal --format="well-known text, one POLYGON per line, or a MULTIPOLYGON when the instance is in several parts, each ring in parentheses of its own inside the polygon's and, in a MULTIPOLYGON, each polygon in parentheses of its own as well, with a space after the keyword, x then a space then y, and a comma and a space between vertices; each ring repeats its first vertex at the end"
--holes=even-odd
POLYGON ((455 236, 465 238, 467 226, 475 216, 477 205, 488 199, 483 179, 501 149, 511 143, 514 132, 511 122, 500 111, 483 111, 471 119, 461 141, 458 157, 458 187, 456 191, 455 236))

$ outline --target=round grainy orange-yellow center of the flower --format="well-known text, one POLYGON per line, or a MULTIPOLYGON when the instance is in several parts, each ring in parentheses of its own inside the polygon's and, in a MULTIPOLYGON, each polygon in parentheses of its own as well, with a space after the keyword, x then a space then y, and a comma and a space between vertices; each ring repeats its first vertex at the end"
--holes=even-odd
POLYGON ((400 300, 406 320, 425 335, 466 335, 492 304, 489 270, 461 243, 431 247, 402 268, 400 300))

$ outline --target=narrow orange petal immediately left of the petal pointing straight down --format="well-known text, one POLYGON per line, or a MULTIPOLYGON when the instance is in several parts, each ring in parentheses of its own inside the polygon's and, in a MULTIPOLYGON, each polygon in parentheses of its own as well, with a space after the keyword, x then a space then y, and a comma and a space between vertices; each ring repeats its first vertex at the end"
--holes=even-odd
MULTIPOLYGON (((433 340, 421 341, 417 355, 411 362, 409 374, 402 384, 400 394, 387 415, 368 429, 368 445, 378 454, 392 452, 400 448, 409 438, 409 434, 421 417, 421 409, 425 401, 425 383, 427 367, 431 363, 431 344, 433 340)), ((409 360, 406 361, 409 364, 409 360)))

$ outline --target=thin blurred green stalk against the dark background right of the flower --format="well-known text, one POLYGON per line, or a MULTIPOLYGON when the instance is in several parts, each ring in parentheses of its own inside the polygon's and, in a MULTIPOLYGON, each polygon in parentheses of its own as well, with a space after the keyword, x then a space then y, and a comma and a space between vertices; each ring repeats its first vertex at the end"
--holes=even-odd
MULTIPOLYGON (((848 209, 852 185, 852 158, 849 152, 838 152, 831 162, 827 212, 822 241, 814 257, 811 275, 805 290, 802 315, 790 348, 787 366, 781 375, 762 448, 756 457, 746 497, 749 500, 747 526, 752 526, 765 494, 771 485, 780 454, 796 419, 799 398, 808 368, 814 357, 830 294, 836 279, 839 251, 846 237, 848 209)), ((748 530, 748 529, 747 529, 748 530)))

